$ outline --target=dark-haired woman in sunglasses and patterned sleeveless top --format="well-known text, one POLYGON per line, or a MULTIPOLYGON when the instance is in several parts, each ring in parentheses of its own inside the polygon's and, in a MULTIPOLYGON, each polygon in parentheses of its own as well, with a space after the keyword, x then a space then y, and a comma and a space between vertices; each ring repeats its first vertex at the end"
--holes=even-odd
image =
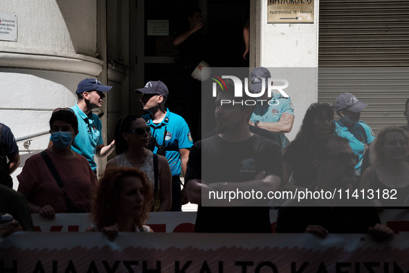
POLYGON ((108 161, 107 168, 124 166, 143 171, 154 195, 152 211, 169 211, 172 204, 172 173, 165 157, 154 155, 145 148, 149 142, 150 129, 140 116, 120 118, 115 127, 115 151, 118 156, 108 161))

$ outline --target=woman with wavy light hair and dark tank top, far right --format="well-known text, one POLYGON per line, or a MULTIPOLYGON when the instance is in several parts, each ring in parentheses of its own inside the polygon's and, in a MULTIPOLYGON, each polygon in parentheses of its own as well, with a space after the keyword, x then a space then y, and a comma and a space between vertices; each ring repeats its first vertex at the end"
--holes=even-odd
POLYGON ((387 206, 409 206, 409 165, 405 161, 408 153, 408 132, 397 126, 379 131, 370 150, 374 165, 365 170, 360 184, 365 196, 371 189, 374 197, 381 197, 375 202, 379 211, 387 206))

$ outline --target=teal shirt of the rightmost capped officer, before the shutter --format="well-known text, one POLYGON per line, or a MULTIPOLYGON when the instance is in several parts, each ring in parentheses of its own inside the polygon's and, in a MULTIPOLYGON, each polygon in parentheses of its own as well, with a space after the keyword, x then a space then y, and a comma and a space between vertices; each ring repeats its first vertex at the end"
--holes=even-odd
POLYGON ((351 146, 354 154, 359 156, 359 160, 355 166, 355 173, 360 174, 365 144, 374 141, 374 132, 372 132, 372 129, 363 121, 358 121, 354 123, 352 127, 348 128, 338 119, 338 121, 335 122, 335 134, 348 139, 349 146, 351 146))

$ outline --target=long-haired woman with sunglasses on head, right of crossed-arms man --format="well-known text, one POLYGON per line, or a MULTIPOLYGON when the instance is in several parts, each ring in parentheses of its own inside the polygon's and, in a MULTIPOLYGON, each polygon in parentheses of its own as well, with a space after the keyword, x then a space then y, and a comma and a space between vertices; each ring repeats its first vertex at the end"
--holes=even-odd
POLYGON ((334 134, 334 109, 328 103, 312 103, 296 139, 291 141, 283 155, 283 184, 287 191, 296 191, 316 182, 316 172, 309 160, 309 144, 318 136, 334 134), (292 183, 289 181, 292 174, 292 183))

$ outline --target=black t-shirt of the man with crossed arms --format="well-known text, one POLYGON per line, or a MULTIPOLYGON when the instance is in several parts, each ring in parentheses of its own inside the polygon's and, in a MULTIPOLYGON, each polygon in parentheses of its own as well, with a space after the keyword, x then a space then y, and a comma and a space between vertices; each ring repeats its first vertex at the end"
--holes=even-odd
MULTIPOLYGON (((266 175, 282 176, 281 148, 277 143, 257 134, 246 141, 234 143, 215 135, 198 141, 190 149, 185 181, 200 179, 206 184, 246 182, 255 179, 263 170, 266 175)), ((257 188, 254 190, 257 191, 257 188)), ((271 232, 269 207, 199 206, 195 231, 271 232)))

